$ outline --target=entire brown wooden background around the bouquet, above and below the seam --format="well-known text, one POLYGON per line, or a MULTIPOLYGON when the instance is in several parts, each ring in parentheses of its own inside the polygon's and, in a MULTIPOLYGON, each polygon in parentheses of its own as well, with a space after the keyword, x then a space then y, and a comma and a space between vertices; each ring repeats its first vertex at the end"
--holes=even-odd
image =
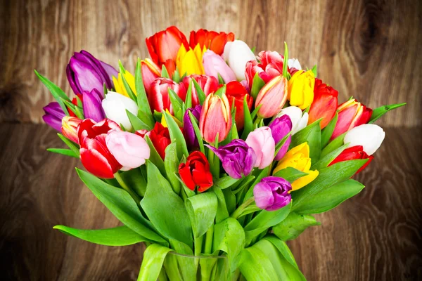
POLYGON ((0 2, 0 273, 6 280, 136 280, 142 247, 103 247, 52 227, 119 222, 79 181, 77 159, 41 122, 52 100, 33 70, 72 95, 65 66, 85 49, 127 69, 145 37, 177 25, 232 31, 257 50, 282 51, 370 107, 407 102, 378 124, 387 136, 366 188, 290 242, 308 280, 422 280, 422 2, 8 1, 0 2), (24 124, 35 123, 35 124, 24 124))

